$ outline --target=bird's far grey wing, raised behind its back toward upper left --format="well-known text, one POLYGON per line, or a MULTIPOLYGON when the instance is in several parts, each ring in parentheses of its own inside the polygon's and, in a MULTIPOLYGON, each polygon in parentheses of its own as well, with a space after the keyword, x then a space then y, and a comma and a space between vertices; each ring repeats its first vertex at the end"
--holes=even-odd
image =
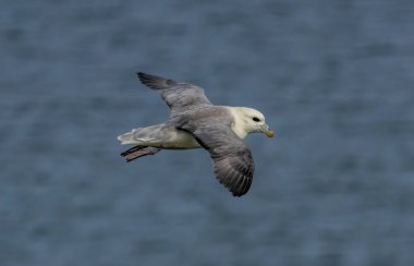
POLYGON ((161 90, 161 97, 170 107, 172 116, 199 105, 211 105, 204 89, 188 84, 138 72, 139 81, 153 89, 161 90))

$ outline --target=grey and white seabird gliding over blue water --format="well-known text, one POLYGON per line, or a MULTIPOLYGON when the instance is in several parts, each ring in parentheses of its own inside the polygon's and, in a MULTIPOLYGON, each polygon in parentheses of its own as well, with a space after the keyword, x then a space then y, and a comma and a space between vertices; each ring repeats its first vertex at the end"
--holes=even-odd
POLYGON ((202 87, 191 83, 143 72, 137 76, 141 83, 160 93, 171 113, 165 123, 119 135, 121 144, 135 145, 121 156, 132 161, 162 149, 205 148, 218 181, 233 196, 246 194, 255 165, 243 138, 251 133, 273 137, 275 132, 267 125, 265 116, 247 107, 215 106, 202 87))

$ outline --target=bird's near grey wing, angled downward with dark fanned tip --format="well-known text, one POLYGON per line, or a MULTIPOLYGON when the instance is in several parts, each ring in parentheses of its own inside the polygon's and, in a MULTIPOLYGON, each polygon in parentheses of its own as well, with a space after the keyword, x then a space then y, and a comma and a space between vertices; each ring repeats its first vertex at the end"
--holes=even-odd
POLYGON ((210 153, 215 174, 220 183, 234 196, 247 193, 255 168, 252 153, 230 125, 184 125, 181 129, 191 133, 210 153))

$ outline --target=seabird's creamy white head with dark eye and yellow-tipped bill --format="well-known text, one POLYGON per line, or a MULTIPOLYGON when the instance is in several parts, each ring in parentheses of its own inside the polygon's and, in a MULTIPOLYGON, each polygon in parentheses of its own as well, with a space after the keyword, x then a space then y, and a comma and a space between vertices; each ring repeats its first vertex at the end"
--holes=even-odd
POLYGON ((269 130, 266 124, 265 116, 253 109, 246 107, 233 108, 233 114, 235 117, 233 131, 244 138, 249 133, 265 133, 268 137, 272 137, 275 132, 269 130))

